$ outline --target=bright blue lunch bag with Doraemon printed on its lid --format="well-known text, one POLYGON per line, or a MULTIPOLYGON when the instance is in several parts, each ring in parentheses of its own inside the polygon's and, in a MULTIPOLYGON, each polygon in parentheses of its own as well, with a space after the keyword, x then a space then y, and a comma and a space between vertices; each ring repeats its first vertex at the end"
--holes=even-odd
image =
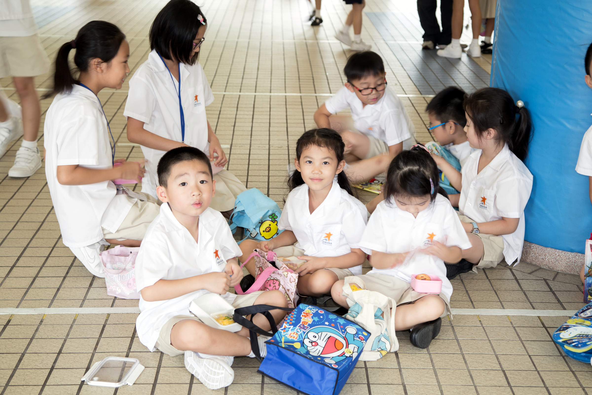
POLYGON ((309 395, 337 395, 370 333, 322 307, 300 304, 266 341, 259 373, 309 395))

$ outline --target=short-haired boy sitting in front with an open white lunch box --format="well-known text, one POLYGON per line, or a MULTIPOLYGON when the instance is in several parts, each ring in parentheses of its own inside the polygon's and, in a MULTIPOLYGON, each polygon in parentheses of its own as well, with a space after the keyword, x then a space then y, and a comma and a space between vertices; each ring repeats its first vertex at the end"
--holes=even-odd
MULTIPOLYGON (((206 387, 229 386, 233 357, 251 351, 249 330, 214 329, 189 312, 189 304, 206 293, 220 294, 234 308, 269 304, 286 307, 279 291, 237 296, 228 292, 243 277, 242 255, 222 214, 209 208, 215 192, 210 159, 194 147, 165 153, 157 168, 157 195, 163 204, 150 224, 136 259, 140 311, 136 328, 140 341, 175 357, 185 353, 185 367, 206 387)), ((271 310, 278 323, 285 311, 271 310)), ((249 316, 247 316, 249 318, 249 316)), ((261 314, 255 325, 270 330, 261 314)), ((265 339, 258 338, 265 357, 265 339)))

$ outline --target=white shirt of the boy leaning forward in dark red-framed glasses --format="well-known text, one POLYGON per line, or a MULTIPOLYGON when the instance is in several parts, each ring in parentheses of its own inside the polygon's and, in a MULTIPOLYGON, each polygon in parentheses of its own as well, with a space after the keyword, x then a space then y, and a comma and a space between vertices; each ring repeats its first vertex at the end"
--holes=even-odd
POLYGON ((387 143, 388 146, 415 135, 415 127, 401 99, 388 86, 379 101, 365 106, 354 92, 343 86, 325 102, 325 107, 331 114, 349 107, 356 129, 387 143))

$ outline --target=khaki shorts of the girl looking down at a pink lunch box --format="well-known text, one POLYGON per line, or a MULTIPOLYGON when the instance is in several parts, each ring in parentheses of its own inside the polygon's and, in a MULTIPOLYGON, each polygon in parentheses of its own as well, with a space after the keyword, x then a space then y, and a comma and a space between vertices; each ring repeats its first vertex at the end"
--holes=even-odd
MULTIPOLYGON (((376 291, 384 296, 392 298, 397 303, 397 306, 400 304, 407 304, 407 303, 414 303, 419 298, 423 298, 427 295, 436 295, 436 294, 420 294, 411 288, 411 284, 407 281, 403 281, 400 278, 388 275, 388 274, 380 274, 380 273, 369 273, 369 274, 362 274, 356 276, 362 279, 364 285, 366 285, 366 290, 368 291, 376 291)), ((360 284, 358 284, 360 285, 360 284)), ((445 294, 437 294, 437 296, 441 297, 446 307, 442 316, 446 317, 450 314, 452 318, 452 311, 450 309, 450 301, 446 297, 445 294)))

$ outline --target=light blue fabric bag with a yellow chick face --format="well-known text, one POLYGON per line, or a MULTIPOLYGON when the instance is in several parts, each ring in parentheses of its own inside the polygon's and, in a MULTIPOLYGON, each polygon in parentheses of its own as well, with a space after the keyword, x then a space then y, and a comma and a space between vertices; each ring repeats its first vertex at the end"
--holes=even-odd
POLYGON ((269 240, 282 233, 278 229, 281 215, 282 210, 275 201, 257 188, 251 188, 236 197, 234 210, 230 214, 230 230, 234 234, 236 227, 241 226, 244 228, 244 239, 252 237, 255 240, 269 240))

